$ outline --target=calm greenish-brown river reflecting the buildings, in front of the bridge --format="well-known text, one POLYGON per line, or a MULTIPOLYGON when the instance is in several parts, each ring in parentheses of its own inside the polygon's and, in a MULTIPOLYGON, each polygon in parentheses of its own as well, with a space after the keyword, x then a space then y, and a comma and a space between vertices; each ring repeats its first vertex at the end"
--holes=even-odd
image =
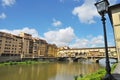
POLYGON ((53 62, 0 66, 0 80, 74 80, 102 68, 97 63, 53 62))

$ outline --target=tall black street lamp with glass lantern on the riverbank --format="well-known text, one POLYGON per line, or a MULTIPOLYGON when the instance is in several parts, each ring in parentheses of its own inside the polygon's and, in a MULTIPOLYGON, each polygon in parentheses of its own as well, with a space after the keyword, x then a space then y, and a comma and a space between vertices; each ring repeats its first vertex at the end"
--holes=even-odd
POLYGON ((108 45, 107 45, 107 35, 106 35, 106 25, 105 25, 105 14, 108 11, 109 2, 108 0, 98 0, 95 3, 98 13, 101 16, 102 24, 103 24, 103 31, 104 31, 104 44, 105 44, 105 55, 106 55, 106 75, 103 80, 115 80, 114 77, 111 75, 111 68, 109 64, 109 55, 108 55, 108 45))

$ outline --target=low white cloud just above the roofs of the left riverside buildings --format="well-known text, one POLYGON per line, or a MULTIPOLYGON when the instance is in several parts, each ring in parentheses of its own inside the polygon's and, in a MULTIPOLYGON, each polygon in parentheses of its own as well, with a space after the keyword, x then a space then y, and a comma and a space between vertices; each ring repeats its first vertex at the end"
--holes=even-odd
POLYGON ((31 34, 33 37, 39 37, 37 30, 32 29, 32 28, 28 28, 28 27, 25 27, 23 29, 14 29, 14 30, 0 29, 0 31, 11 33, 14 35, 19 35, 20 32, 24 32, 24 33, 31 34))

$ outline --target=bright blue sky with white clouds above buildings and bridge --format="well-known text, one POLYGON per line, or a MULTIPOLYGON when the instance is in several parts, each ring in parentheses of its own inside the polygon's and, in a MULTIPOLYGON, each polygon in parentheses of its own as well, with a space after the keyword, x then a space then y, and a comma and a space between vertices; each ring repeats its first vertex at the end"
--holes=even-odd
MULTIPOLYGON (((46 40, 58 47, 104 47, 97 0, 0 0, 0 31, 20 32, 46 40)), ((110 5, 120 0, 108 0, 110 5)), ((106 14, 108 46, 115 46, 114 34, 106 14)))

